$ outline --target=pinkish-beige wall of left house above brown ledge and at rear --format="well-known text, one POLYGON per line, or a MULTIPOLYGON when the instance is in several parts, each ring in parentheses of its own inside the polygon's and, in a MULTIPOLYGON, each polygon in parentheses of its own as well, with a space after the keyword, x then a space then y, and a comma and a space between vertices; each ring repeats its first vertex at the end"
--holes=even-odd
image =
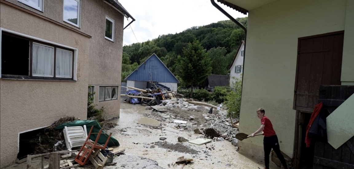
POLYGON ((119 117, 120 97, 118 100, 98 102, 98 89, 99 85, 121 85, 124 16, 102 0, 81 1, 80 27, 78 28, 63 21, 63 0, 55 0, 50 3, 44 1, 44 12, 35 10, 17 0, 6 1, 92 36, 88 59, 90 65, 89 83, 87 85, 96 86, 95 103, 97 108, 109 106, 106 119, 119 117), (106 16, 114 20, 114 42, 104 38, 106 16))

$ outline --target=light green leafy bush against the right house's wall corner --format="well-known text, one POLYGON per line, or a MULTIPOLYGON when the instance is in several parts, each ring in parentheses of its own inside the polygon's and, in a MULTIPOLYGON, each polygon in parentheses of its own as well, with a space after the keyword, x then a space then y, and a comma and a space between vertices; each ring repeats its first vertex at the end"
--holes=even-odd
MULTIPOLYGON (((233 77, 234 78, 234 77, 233 77)), ((231 84, 234 91, 229 92, 225 96, 225 107, 228 108, 227 114, 232 118, 237 118, 240 115, 241 107, 241 91, 242 91, 242 79, 236 79, 236 83, 231 84)))

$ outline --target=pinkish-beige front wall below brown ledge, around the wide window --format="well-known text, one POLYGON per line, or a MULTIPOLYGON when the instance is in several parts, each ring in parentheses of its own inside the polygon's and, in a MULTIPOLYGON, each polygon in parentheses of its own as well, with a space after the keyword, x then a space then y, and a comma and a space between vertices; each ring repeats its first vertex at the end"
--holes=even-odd
POLYGON ((72 47, 78 60, 77 81, 0 79, 3 168, 17 159, 20 133, 51 125, 60 117, 86 119, 90 38, 2 3, 0 11, 2 29, 72 47))

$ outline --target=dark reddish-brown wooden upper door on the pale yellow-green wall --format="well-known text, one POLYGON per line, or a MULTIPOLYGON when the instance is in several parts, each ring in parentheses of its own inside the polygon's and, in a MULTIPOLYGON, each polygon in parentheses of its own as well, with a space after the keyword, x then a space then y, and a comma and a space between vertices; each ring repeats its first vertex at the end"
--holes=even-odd
POLYGON ((312 112, 320 85, 341 85, 344 31, 298 39, 293 109, 312 112))

